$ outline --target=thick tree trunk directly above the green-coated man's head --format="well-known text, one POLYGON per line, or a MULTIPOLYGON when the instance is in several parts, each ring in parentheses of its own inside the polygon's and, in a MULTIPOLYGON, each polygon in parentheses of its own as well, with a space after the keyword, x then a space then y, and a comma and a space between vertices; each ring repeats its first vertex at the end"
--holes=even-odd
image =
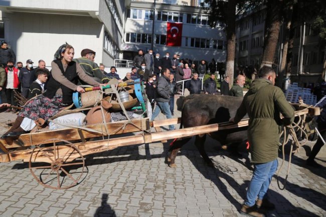
POLYGON ((272 67, 273 64, 281 25, 281 3, 281 0, 269 0, 267 3, 264 51, 260 68, 262 68, 263 66, 272 67))

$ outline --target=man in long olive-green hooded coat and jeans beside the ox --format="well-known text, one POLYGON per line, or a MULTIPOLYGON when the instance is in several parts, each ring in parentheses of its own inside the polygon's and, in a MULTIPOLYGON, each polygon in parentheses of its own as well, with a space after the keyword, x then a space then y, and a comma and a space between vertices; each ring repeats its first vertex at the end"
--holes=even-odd
POLYGON ((252 83, 235 117, 230 120, 238 123, 246 113, 250 118, 248 140, 254 172, 240 210, 240 213, 249 216, 264 216, 259 208, 275 208, 266 196, 278 166, 279 127, 294 120, 293 107, 286 101, 282 90, 274 86, 275 77, 271 67, 262 67, 259 78, 252 83))

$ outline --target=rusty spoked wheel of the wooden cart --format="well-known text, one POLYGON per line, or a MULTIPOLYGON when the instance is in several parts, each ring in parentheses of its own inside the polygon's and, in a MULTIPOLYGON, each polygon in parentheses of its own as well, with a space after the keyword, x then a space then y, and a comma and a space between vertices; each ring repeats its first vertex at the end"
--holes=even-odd
POLYGON ((63 139, 49 139, 36 145, 29 162, 34 178, 52 189, 77 185, 84 173, 84 167, 82 153, 73 143, 63 139), (35 162, 42 162, 42 165, 35 162))

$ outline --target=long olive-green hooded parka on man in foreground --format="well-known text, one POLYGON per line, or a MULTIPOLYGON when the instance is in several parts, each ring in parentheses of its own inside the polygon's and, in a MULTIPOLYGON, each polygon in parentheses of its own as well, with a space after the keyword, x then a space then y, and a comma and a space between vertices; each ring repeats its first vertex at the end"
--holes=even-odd
POLYGON ((251 161, 266 163, 278 156, 279 126, 294 120, 294 109, 284 93, 272 82, 259 78, 253 81, 234 118, 238 123, 245 114, 249 116, 248 140, 251 161), (280 113, 284 116, 281 120, 280 113))

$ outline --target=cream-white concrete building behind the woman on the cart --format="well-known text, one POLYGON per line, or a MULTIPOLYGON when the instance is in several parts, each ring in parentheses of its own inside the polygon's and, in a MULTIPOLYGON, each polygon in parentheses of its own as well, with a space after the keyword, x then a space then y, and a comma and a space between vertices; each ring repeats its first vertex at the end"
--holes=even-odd
POLYGON ((4 0, 0 1, 0 37, 17 55, 17 61, 54 59, 65 42, 96 52, 95 62, 113 65, 119 59, 126 8, 130 0, 4 0))

